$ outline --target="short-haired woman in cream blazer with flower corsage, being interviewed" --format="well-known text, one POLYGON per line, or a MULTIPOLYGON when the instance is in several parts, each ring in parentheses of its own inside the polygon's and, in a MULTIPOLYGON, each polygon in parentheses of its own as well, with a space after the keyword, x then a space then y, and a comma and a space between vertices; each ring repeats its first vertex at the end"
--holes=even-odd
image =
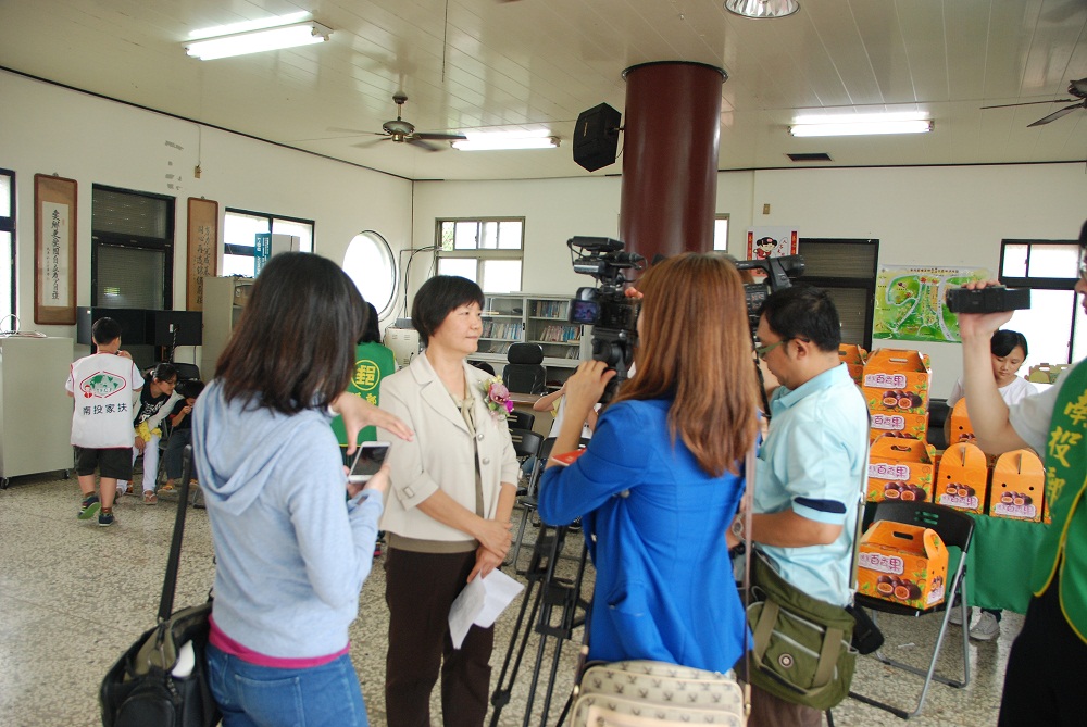
POLYGON ((483 302, 479 286, 466 278, 439 275, 423 284, 412 323, 426 350, 382 381, 380 408, 415 431, 410 442, 382 433, 391 442, 392 468, 382 521, 390 727, 430 724, 439 672, 445 725, 478 726, 487 714, 493 628, 474 626, 453 649, 448 625, 465 585, 505 557, 516 498, 517 459, 505 409, 496 401, 504 387, 466 361, 483 330, 483 302))

